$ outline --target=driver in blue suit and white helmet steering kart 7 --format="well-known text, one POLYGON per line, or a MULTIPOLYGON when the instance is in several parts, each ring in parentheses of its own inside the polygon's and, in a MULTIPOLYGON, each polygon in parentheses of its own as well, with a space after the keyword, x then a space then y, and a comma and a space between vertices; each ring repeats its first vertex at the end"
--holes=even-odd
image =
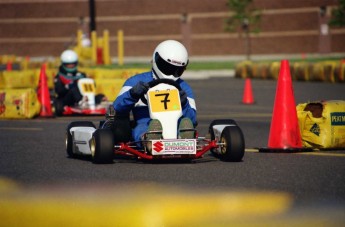
MULTIPOLYGON (((116 115, 129 115, 133 113, 136 123, 132 130, 134 141, 142 139, 160 139, 159 137, 143 138, 145 132, 161 131, 162 126, 158 120, 151 120, 148 106, 141 97, 149 90, 149 82, 156 79, 170 79, 180 85, 179 91, 183 116, 179 119, 179 129, 194 129, 196 121, 196 105, 191 87, 181 79, 188 65, 188 52, 178 41, 166 40, 160 43, 153 52, 152 70, 135 75, 124 83, 119 95, 113 103, 116 115)), ((179 133, 180 138, 194 138, 194 132, 179 133)), ((147 134, 147 136, 154 134, 147 134)))

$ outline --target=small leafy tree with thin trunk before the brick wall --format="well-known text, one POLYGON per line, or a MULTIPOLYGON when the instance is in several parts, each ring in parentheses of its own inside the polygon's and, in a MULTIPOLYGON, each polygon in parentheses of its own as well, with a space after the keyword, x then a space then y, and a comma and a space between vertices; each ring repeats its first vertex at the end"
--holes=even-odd
POLYGON ((225 31, 242 31, 245 36, 246 58, 251 55, 251 32, 259 32, 261 12, 253 8, 253 0, 227 0, 230 16, 225 19, 225 31))

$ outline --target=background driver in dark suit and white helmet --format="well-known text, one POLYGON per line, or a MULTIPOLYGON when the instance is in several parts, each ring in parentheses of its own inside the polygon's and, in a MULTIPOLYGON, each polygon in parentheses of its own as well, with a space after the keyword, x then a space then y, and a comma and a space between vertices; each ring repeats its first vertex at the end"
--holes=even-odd
POLYGON ((57 99, 60 99, 64 106, 82 105, 86 102, 77 86, 78 80, 86 78, 86 75, 79 72, 77 67, 77 53, 73 50, 62 52, 59 72, 54 78, 54 87, 57 99))

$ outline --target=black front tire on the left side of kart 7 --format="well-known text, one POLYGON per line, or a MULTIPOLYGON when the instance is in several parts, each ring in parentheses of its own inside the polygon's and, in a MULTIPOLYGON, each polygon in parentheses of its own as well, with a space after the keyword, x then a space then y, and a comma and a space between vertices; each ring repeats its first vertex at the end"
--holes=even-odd
POLYGON ((91 140, 92 160, 96 164, 112 163, 114 158, 113 133, 109 129, 97 129, 91 140))

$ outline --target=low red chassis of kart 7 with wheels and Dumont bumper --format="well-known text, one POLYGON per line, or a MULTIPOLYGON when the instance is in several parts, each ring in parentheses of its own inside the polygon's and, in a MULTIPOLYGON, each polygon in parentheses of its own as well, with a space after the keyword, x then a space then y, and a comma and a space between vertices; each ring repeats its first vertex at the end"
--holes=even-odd
POLYGON ((94 163, 110 163, 121 156, 143 160, 192 160, 202 158, 206 152, 211 151, 223 161, 240 162, 245 152, 242 130, 231 119, 212 121, 206 137, 199 137, 195 130, 194 139, 182 140, 131 141, 122 127, 114 130, 104 122, 100 122, 100 125, 101 128, 96 129, 92 122, 71 122, 66 130, 68 156, 91 155, 94 163))

